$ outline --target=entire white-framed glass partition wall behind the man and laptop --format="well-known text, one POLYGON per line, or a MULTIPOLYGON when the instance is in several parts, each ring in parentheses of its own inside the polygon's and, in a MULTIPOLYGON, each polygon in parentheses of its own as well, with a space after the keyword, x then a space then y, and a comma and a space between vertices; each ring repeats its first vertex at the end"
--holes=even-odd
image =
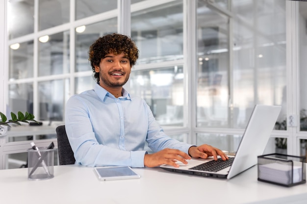
POLYGON ((306 155, 307 2, 128 0, 120 12, 122 1, 8 0, 8 111, 53 131, 8 136, 2 168, 26 164, 29 140, 56 141, 67 99, 94 87, 89 46, 126 32, 127 12, 140 56, 125 88, 167 134, 235 152, 255 104, 281 105, 266 152, 306 155))

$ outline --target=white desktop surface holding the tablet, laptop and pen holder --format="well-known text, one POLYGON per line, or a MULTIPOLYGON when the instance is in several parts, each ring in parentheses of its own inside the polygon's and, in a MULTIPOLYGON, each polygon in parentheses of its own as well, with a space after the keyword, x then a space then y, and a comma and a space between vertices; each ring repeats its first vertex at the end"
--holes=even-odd
POLYGON ((257 181, 256 166, 231 180, 134 168, 141 179, 99 181, 91 167, 54 166, 54 178, 28 181, 27 169, 0 170, 1 204, 306 204, 307 184, 257 181))

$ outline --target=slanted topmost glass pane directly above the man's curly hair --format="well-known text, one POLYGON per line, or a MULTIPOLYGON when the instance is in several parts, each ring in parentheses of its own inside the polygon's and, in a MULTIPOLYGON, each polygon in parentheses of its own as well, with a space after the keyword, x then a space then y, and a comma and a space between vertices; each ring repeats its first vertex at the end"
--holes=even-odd
POLYGON ((76 20, 117 8, 117 0, 76 0, 76 20))

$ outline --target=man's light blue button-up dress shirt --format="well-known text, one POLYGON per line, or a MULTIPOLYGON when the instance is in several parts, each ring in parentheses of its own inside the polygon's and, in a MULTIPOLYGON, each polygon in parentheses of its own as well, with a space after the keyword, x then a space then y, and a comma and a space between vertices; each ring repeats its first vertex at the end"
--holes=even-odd
POLYGON ((144 167, 145 141, 153 152, 173 148, 188 154, 192 146, 166 136, 145 100, 125 89, 115 98, 99 84, 67 101, 65 128, 76 163, 85 166, 144 167))

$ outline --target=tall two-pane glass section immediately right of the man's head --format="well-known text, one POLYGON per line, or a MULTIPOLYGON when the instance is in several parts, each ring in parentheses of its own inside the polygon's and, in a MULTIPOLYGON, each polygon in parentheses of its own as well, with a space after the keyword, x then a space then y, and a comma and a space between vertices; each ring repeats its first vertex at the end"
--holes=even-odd
POLYGON ((131 13, 140 51, 130 92, 146 100, 159 124, 183 127, 183 1, 131 13))

